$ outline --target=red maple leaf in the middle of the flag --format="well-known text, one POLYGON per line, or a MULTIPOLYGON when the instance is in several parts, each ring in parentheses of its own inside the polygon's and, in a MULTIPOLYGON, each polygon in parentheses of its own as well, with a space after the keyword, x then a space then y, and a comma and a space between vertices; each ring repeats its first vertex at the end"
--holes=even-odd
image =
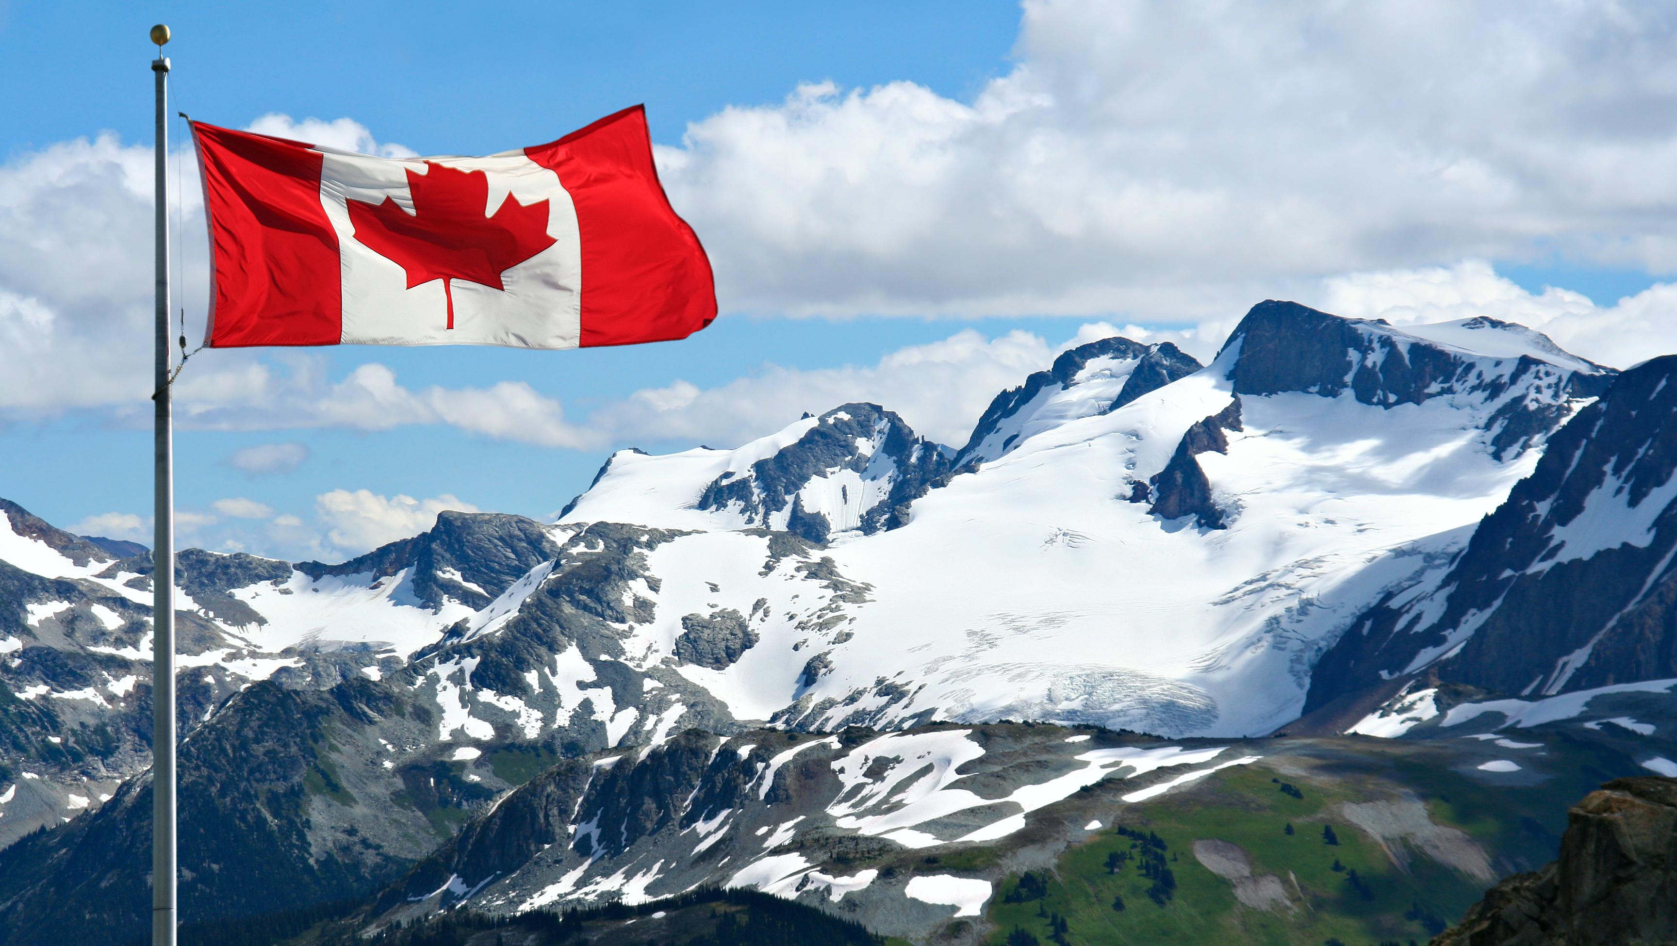
POLYGON ((501 273, 553 245, 547 235, 547 200, 522 205, 506 196, 486 215, 490 176, 426 161, 426 173, 408 169, 414 213, 392 198, 379 205, 349 201, 349 223, 369 250, 408 273, 408 288, 443 280, 448 327, 454 327, 454 292, 463 278, 505 290, 501 273))

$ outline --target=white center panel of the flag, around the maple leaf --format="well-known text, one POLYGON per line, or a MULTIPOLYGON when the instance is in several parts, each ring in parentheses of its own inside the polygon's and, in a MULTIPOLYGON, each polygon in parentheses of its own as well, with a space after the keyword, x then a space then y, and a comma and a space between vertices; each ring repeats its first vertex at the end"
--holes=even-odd
POLYGON ((339 236, 342 260, 344 344, 399 346, 517 346, 577 347, 582 339, 582 238, 577 208, 548 168, 523 151, 488 158, 391 159, 317 146, 320 205, 339 236), (424 174, 429 164, 458 171, 483 171, 488 179, 485 216, 495 216, 506 200, 523 206, 547 201, 547 235, 553 243, 503 270, 503 288, 453 278, 444 294, 441 278, 408 287, 408 270, 356 238, 349 201, 367 206, 386 198, 409 215, 419 213, 408 171, 424 174), (449 299, 453 295, 453 329, 449 299))

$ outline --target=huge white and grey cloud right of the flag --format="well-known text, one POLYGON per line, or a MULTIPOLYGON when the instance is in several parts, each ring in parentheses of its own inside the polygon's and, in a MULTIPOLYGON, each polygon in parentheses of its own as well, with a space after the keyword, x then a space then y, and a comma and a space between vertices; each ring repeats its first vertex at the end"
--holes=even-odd
POLYGON ((812 84, 657 151, 724 309, 1197 320, 1466 257, 1677 270, 1677 7, 1023 8, 971 101, 812 84))

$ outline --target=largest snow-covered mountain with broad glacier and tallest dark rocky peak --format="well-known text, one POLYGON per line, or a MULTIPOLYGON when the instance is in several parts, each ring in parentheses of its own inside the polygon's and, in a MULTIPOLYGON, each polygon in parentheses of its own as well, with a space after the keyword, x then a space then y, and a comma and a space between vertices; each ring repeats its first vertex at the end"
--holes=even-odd
MULTIPOLYGON (((1112 391, 1058 423, 1030 414, 901 528, 822 550, 847 590, 813 624, 795 604, 808 582, 768 567, 768 535, 701 518, 694 453, 614 460, 565 522, 703 530, 647 555, 654 617, 626 647, 672 658, 740 720, 1259 733, 1298 715, 1316 656, 1387 585, 1457 550, 1612 374, 1506 324, 1434 330, 1449 340, 1263 304, 1212 366, 1105 413, 1090 404, 1112 391), (1462 347, 1481 337, 1494 354, 1462 347), (750 646, 683 666, 683 622, 726 614, 755 616, 750 646)), ((1098 389, 1085 371, 1103 357, 1067 362, 1070 379, 1098 389)), ((1041 382, 1026 403, 1080 387, 1041 382)))

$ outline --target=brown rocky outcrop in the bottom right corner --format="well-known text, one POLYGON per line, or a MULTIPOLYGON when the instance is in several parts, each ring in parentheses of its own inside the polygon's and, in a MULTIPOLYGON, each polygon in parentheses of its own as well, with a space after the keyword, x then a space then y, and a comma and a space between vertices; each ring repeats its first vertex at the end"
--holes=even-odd
POLYGON ((1560 857, 1486 892, 1434 946, 1677 943, 1677 778, 1618 778, 1568 813, 1560 857))

